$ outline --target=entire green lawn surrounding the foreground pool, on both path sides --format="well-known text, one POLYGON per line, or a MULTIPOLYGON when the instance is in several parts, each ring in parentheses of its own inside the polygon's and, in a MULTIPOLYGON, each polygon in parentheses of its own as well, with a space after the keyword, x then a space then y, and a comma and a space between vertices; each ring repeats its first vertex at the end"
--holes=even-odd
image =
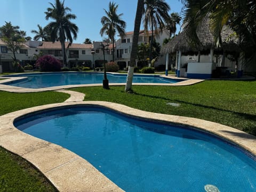
MULTIPOLYGON (((256 135, 256 81, 205 81, 191 86, 81 87, 85 100, 100 100, 156 113, 196 117, 229 125, 256 135), (167 103, 179 103, 179 107, 167 103)), ((57 92, 9 93, 0 91, 0 115, 23 108, 63 102, 57 92)), ((0 147, 0 191, 54 191, 55 189, 22 158, 0 147), (25 163, 23 165, 22 163, 25 163), (26 176, 25 176, 25 175, 26 176)))

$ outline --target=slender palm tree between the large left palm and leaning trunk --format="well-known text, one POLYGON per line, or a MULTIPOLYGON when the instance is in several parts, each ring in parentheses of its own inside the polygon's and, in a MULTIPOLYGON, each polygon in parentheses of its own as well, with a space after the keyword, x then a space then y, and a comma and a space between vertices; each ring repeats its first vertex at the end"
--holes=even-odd
POLYGON ((116 30, 118 34, 121 36, 121 38, 125 35, 125 27, 126 22, 121 19, 121 14, 117 14, 117 8, 118 5, 114 2, 109 2, 108 9, 109 11, 103 9, 107 16, 103 16, 101 18, 102 28, 100 29, 100 35, 103 36, 103 34, 108 35, 108 38, 111 39, 111 42, 113 44, 113 61, 115 59, 114 57, 114 43, 115 43, 115 35, 116 30))

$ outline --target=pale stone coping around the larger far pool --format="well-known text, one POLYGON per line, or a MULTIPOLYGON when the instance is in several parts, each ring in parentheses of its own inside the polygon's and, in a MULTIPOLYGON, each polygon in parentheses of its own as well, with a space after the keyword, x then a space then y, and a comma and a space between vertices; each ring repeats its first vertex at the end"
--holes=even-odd
MULTIPOLYGON (((49 72, 45 72, 45 73, 49 74, 49 72)), ((75 72, 69 72, 69 73, 75 73, 75 72)), ((93 73, 102 73, 102 72, 93 72, 93 73)), ((35 74, 42 74, 42 72, 35 73, 35 74)), ((116 75, 118 73, 109 73, 109 74, 116 75)), ((18 74, 13 74, 13 75, 18 75, 18 74)), ((30 73, 30 75, 31 75, 31 73, 30 73)), ((123 75, 123 74, 121 74, 121 75, 123 75)), ((135 75, 150 76, 150 74, 135 74, 135 75)), ((155 76, 155 74, 153 74, 151 76, 155 76)), ((205 81, 204 79, 188 79, 188 78, 174 77, 171 75, 169 75, 169 76, 157 75, 157 76, 171 78, 171 79, 182 79, 185 81, 181 81, 181 82, 177 82, 177 83, 132 83, 132 85, 187 86, 187 85, 194 85, 196 83, 205 81)), ((30 89, 30 88, 24 88, 24 87, 3 84, 6 82, 12 82, 12 81, 25 79, 25 78, 27 78, 26 76, 22 76, 22 77, 9 77, 9 76, 3 77, 2 76, 0 78, 6 78, 5 80, 1 80, 1 82, 0 82, 0 91, 7 91, 7 92, 13 92, 13 93, 43 92, 43 91, 55 91, 55 90, 62 90, 62 89, 70 89, 70 88, 75 88, 75 87, 102 86, 102 83, 98 83, 98 84, 62 85, 62 86, 44 87, 44 88, 39 88, 39 89, 30 89)), ((110 86, 120 86, 120 85, 126 85, 126 83, 109 83, 109 85, 110 86)))

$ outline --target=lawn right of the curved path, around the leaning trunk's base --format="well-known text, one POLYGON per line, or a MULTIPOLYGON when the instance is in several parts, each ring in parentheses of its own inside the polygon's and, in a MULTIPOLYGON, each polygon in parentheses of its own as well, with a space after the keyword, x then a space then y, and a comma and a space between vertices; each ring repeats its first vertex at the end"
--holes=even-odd
POLYGON ((85 100, 121 103, 155 113, 205 119, 256 135, 256 81, 205 81, 191 86, 81 87, 85 100), (179 103, 179 107, 167 105, 179 103))

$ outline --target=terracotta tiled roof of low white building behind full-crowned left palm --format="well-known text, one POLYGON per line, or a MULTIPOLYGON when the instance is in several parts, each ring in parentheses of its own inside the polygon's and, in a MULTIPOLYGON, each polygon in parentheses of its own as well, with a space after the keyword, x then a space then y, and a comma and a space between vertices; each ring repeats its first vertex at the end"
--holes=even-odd
MULTIPOLYGON (((42 42, 43 44, 41 46, 38 46, 38 49, 61 49, 61 43, 60 42, 42 42)), ((69 45, 69 42, 65 42, 65 47, 67 49, 69 45)), ((69 49, 92 49, 92 44, 80 44, 80 43, 72 43, 69 47, 69 49)))

